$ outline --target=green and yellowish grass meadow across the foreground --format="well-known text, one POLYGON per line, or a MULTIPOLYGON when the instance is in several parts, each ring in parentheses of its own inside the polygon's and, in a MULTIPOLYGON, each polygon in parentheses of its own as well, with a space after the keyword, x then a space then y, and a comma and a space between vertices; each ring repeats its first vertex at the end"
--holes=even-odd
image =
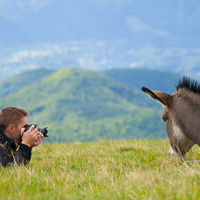
POLYGON ((28 166, 0 168, 1 199, 200 199, 200 149, 168 140, 43 143, 28 166))

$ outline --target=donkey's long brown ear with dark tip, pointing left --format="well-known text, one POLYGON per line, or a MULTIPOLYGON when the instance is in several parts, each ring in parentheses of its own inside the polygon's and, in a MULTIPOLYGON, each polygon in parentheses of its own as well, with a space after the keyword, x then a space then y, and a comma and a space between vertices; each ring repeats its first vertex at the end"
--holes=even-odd
POLYGON ((151 98, 157 100, 159 103, 161 103, 164 106, 170 106, 172 103, 172 96, 169 94, 165 94, 163 92, 155 92, 151 91, 148 88, 142 87, 141 88, 143 92, 145 92, 147 95, 149 95, 151 98))

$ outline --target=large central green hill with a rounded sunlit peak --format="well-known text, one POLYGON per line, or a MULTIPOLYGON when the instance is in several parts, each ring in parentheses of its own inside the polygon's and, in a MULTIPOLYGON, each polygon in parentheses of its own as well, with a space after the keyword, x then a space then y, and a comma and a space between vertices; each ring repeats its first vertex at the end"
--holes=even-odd
POLYGON ((33 115, 43 113, 46 123, 72 120, 72 115, 78 120, 116 117, 136 106, 147 106, 148 101, 141 91, 101 73, 64 68, 8 96, 0 106, 25 107, 33 115))

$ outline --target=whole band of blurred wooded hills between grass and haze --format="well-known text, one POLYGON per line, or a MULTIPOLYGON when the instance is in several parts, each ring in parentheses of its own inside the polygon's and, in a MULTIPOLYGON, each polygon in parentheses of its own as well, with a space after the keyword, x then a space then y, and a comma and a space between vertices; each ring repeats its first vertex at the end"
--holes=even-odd
POLYGON ((0 109, 8 105, 25 108, 30 123, 49 127, 50 137, 45 141, 50 142, 165 138, 162 106, 140 88, 174 90, 177 78, 134 69, 31 70, 0 83, 0 109))

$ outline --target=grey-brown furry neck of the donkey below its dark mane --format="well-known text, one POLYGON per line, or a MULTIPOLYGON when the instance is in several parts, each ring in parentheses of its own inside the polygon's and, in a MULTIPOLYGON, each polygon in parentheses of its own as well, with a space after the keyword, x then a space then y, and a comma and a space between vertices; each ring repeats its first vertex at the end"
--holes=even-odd
POLYGON ((185 88, 174 94, 171 119, 186 137, 200 146, 200 95, 185 88))

